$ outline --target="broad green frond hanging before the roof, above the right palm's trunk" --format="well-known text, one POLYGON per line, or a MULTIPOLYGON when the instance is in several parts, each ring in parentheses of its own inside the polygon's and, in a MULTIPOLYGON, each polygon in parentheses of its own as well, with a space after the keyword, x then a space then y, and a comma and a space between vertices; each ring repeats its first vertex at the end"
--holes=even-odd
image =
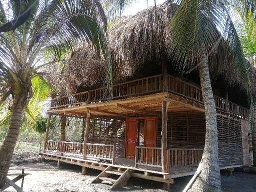
POLYGON ((177 2, 173 18, 169 23, 169 55, 178 61, 182 71, 193 64, 205 46, 210 51, 220 37, 216 26, 221 27, 221 7, 211 0, 182 0, 177 2))

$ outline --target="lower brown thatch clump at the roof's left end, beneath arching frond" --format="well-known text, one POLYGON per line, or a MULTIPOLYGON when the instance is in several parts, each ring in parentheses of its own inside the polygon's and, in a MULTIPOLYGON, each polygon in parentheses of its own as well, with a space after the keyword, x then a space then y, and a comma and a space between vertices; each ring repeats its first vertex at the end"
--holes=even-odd
POLYGON ((77 92, 78 87, 95 87, 105 82, 107 63, 102 55, 86 45, 78 46, 70 59, 56 61, 43 69, 43 76, 53 86, 52 96, 77 92))

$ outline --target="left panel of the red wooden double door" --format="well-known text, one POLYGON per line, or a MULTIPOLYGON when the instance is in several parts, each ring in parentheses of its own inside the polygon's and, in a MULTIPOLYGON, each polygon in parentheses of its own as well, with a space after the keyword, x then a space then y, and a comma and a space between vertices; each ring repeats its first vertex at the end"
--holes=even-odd
POLYGON ((137 142, 137 121, 136 119, 126 120, 126 141, 125 141, 126 158, 135 158, 135 148, 137 142))

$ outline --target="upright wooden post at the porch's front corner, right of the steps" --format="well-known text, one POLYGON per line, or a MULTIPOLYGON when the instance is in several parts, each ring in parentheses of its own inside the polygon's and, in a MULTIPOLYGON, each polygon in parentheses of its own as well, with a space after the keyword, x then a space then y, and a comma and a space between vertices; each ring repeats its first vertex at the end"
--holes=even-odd
MULTIPOLYGON (((161 139, 161 163, 162 163, 162 172, 168 173, 167 170, 167 107, 166 101, 162 101, 162 139, 161 139)), ((169 189, 169 183, 163 183, 164 189, 169 189)))

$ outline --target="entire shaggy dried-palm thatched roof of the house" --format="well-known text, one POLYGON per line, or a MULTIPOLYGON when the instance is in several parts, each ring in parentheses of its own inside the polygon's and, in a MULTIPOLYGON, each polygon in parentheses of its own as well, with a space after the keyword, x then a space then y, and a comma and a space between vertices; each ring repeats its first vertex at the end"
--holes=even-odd
MULTIPOLYGON (((108 38, 113 82, 161 73, 161 64, 166 62, 169 74, 184 76, 199 83, 196 69, 185 74, 185 71, 195 65, 197 60, 191 60, 190 65, 179 67, 180 65, 171 59, 171 52, 168 49, 171 43, 168 23, 174 6, 166 2, 158 5, 156 11, 155 7, 149 7, 135 15, 121 17, 112 23, 108 38)), ((65 82, 65 84, 69 83, 69 90, 73 91, 77 87, 80 89, 96 87, 105 82, 106 62, 88 45, 76 49, 71 60, 73 61, 66 63, 63 72, 69 81, 65 82)), ((239 72, 233 65, 232 54, 228 53, 228 45, 224 40, 221 40, 210 53, 209 69, 213 83, 224 81, 225 84, 246 89, 240 80, 239 72)), ((59 82, 62 83, 58 81, 55 84, 59 82)))

